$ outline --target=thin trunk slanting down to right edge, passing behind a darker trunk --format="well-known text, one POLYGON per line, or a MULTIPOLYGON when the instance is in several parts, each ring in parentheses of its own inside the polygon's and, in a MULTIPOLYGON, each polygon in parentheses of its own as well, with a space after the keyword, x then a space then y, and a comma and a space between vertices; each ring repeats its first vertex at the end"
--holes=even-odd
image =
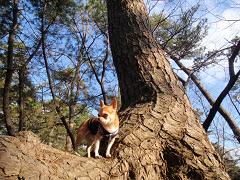
MULTIPOLYGON (((190 70, 188 70, 176 57, 171 56, 171 58, 192 79, 192 81, 195 83, 195 85, 198 87, 198 89, 201 91, 201 93, 207 99, 209 104, 211 106, 213 106, 215 104, 213 97, 207 92, 207 90, 204 88, 204 86, 201 84, 201 82, 197 79, 197 77, 194 74, 192 74, 192 72, 190 70)), ((231 117, 231 115, 222 106, 219 106, 218 112, 227 121, 229 127, 233 131, 234 136, 240 143, 240 130, 239 130, 238 125, 235 122, 235 120, 231 117)))

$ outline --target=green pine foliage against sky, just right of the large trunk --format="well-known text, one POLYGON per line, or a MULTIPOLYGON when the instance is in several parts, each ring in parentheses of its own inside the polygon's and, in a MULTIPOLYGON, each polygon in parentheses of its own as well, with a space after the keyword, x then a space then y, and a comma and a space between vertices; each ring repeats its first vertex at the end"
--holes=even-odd
POLYGON ((202 49, 200 41, 206 36, 207 20, 194 18, 199 5, 183 12, 179 18, 170 19, 164 14, 153 14, 150 24, 163 49, 181 58, 194 57, 202 49))

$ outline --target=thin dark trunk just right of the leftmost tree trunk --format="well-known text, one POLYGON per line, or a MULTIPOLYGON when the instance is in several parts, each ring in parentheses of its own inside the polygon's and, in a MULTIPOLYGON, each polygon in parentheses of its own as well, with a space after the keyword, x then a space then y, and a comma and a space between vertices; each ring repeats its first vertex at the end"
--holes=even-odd
POLYGON ((24 82, 26 79, 26 67, 25 65, 21 66, 19 68, 18 73, 18 106, 19 106, 19 125, 18 125, 18 131, 23 131, 25 129, 25 100, 24 100, 24 82))

